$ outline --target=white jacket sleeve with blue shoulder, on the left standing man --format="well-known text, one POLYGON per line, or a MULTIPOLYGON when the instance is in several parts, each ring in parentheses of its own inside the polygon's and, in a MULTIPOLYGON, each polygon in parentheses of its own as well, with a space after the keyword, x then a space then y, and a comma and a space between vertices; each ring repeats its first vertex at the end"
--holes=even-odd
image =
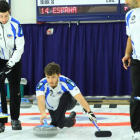
POLYGON ((9 59, 7 64, 9 66, 14 66, 15 63, 19 62, 21 59, 21 56, 24 52, 24 35, 23 35, 23 30, 20 24, 17 24, 16 27, 16 36, 15 36, 15 45, 14 45, 14 52, 12 57, 9 59))

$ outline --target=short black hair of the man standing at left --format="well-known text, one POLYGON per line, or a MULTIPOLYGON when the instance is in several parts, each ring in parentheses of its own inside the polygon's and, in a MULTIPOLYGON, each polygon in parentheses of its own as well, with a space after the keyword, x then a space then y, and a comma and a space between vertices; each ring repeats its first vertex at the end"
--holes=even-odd
POLYGON ((5 0, 0 0, 0 12, 5 13, 5 12, 10 11, 10 5, 8 2, 5 0))

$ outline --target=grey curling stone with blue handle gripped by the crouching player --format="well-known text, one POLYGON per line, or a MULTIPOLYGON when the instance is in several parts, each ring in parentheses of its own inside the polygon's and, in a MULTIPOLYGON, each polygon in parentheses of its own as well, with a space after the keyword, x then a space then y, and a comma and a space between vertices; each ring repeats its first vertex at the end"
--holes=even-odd
POLYGON ((47 120, 44 119, 44 125, 34 127, 33 134, 37 137, 54 137, 58 134, 58 129, 53 125, 48 125, 47 120))

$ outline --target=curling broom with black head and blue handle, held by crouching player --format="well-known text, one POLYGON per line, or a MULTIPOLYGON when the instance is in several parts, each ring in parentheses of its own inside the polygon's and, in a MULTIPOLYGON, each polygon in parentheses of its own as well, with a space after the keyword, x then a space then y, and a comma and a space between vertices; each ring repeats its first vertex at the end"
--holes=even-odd
POLYGON ((92 121, 92 123, 98 129, 98 131, 95 132, 96 137, 111 137, 112 136, 111 131, 101 131, 100 128, 98 127, 98 125, 94 121, 92 121))

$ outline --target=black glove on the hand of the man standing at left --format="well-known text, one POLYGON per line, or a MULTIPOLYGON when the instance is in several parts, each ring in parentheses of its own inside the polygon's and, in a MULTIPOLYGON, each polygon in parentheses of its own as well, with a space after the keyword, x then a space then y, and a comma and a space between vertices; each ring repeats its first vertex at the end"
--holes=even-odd
POLYGON ((6 65, 1 71, 0 71, 0 76, 1 76, 1 80, 4 80, 8 74, 11 72, 12 67, 9 65, 6 65))

